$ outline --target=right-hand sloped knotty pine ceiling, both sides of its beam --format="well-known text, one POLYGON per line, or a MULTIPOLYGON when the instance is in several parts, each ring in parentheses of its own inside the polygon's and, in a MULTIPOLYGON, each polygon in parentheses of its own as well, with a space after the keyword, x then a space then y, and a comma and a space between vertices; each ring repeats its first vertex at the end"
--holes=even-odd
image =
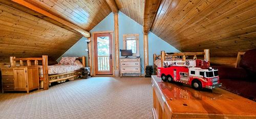
MULTIPOLYGON (((115 1, 142 25, 143 0, 115 1)), ((182 52, 235 57, 256 48, 255 13, 255 0, 162 0, 151 31, 182 52)))

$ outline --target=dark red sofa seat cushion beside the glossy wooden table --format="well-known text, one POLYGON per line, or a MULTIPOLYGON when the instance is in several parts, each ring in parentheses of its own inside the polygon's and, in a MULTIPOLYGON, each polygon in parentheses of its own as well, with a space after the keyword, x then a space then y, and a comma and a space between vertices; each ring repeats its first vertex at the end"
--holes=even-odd
POLYGON ((234 80, 234 79, 220 79, 222 83, 221 88, 239 94, 242 97, 256 101, 256 82, 234 80))

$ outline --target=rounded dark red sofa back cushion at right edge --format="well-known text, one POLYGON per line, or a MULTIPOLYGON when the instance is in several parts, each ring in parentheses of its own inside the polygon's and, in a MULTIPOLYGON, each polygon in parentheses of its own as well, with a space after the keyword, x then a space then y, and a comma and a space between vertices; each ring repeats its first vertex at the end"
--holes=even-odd
POLYGON ((240 61, 240 67, 246 70, 249 77, 256 79, 256 49, 245 52, 240 61))

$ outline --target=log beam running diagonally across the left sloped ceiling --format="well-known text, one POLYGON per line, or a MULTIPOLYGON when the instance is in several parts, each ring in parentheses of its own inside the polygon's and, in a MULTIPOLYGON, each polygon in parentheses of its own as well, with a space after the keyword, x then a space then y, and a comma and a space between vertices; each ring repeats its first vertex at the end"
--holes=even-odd
POLYGON ((38 8, 38 7, 32 5, 32 4, 30 4, 30 3, 28 3, 28 2, 26 2, 24 0, 12 0, 12 1, 17 3, 17 4, 19 4, 19 5, 23 5, 23 6, 29 8, 31 10, 34 10, 34 11, 40 13, 40 14, 46 15, 49 18, 52 18, 52 19, 62 23, 63 25, 66 25, 67 27, 69 27, 71 29, 74 29, 75 31, 79 32, 84 37, 87 37, 87 38, 90 37, 90 33, 87 32, 86 30, 84 30, 84 29, 74 25, 73 23, 71 23, 69 21, 66 21, 66 20, 64 20, 62 18, 59 18, 59 17, 57 17, 57 16, 55 16, 55 15, 53 15, 53 14, 51 14, 51 13, 49 13, 49 12, 43 10, 43 9, 41 9, 41 8, 38 8))

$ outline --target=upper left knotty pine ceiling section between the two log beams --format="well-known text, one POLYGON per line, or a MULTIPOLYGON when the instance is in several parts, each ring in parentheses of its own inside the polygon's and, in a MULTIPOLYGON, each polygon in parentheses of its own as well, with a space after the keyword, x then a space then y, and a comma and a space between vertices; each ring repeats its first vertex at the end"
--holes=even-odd
POLYGON ((62 19, 65 19, 80 28, 90 31, 102 19, 111 13, 105 0, 97 1, 68 1, 68 0, 44 0, 26 2, 48 11, 62 19))

